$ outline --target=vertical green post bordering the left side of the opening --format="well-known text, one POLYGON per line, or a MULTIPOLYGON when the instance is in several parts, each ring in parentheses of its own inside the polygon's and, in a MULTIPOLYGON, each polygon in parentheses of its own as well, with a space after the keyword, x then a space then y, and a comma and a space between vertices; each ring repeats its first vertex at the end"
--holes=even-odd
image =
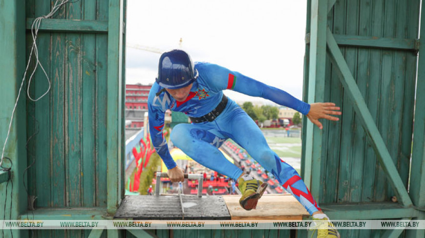
POLYGON ((121 190, 121 89, 123 0, 109 0, 107 70, 107 208, 114 213, 121 190))

